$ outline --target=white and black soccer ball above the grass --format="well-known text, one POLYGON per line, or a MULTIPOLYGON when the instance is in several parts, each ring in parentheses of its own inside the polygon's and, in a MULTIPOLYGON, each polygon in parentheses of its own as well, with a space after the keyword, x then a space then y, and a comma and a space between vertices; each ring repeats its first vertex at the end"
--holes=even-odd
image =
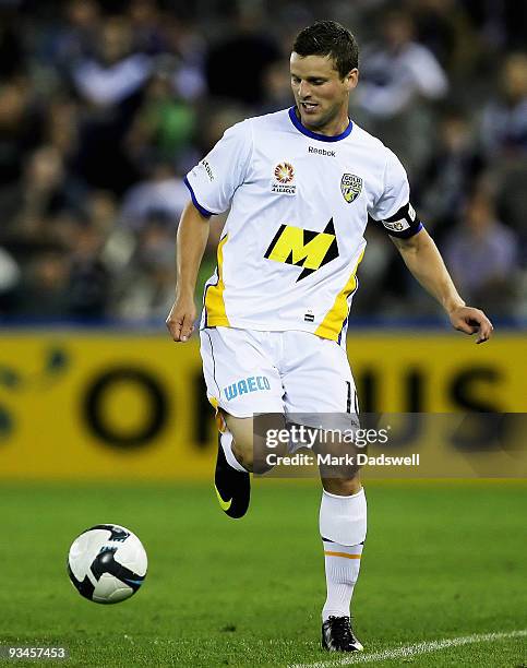
POLYGON ((130 598, 143 584, 148 562, 141 540, 118 524, 97 524, 73 541, 68 574, 85 598, 115 604, 130 598))

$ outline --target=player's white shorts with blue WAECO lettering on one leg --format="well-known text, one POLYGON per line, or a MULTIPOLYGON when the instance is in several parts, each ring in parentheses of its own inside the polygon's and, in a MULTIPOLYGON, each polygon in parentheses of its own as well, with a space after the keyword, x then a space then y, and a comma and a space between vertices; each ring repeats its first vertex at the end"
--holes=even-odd
POLYGON ((300 422, 320 427, 320 416, 331 414, 324 427, 336 429, 358 415, 346 350, 334 341, 232 327, 204 329, 200 336, 208 399, 233 417, 314 415, 314 422, 300 422))

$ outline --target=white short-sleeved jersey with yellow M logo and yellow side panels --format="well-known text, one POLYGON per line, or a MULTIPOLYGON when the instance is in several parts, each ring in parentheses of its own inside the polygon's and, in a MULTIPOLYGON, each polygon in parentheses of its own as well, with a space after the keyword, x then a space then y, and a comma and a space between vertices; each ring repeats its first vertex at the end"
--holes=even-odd
POLYGON ((421 228, 406 172, 354 124, 326 136, 295 107, 227 130, 185 177, 204 214, 230 212, 202 327, 301 330, 340 342, 370 215, 390 235, 421 228))

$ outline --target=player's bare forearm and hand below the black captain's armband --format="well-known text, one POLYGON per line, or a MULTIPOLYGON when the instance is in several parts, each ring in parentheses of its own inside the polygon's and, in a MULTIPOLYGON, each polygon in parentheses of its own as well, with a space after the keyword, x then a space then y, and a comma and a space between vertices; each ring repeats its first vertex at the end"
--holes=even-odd
POLYGON ((488 341, 493 330, 490 320, 483 311, 467 307, 459 297, 443 258, 427 230, 422 228, 406 239, 390 238, 417 281, 448 313, 453 327, 466 334, 478 333, 478 344, 488 341))

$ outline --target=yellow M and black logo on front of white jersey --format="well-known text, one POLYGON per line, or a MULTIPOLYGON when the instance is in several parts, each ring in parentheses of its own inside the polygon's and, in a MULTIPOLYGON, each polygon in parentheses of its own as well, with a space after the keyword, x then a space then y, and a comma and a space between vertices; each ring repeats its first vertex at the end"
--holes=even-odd
POLYGON ((303 271, 297 281, 306 278, 324 264, 338 258, 333 218, 321 232, 291 225, 280 225, 264 258, 302 266, 303 271))

